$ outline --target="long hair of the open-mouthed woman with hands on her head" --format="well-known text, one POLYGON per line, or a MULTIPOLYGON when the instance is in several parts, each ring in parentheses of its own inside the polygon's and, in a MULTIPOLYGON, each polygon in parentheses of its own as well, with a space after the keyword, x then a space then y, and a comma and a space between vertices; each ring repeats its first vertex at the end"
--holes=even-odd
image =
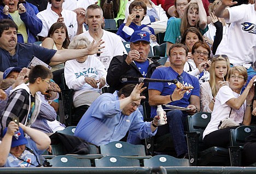
MULTIPOLYGON (((182 16, 182 22, 181 22, 181 35, 183 35, 183 33, 185 32, 185 30, 189 27, 193 27, 193 26, 190 26, 189 25, 189 22, 188 22, 188 10, 190 9, 196 9, 198 10, 198 5, 197 3, 190 3, 186 8, 185 8, 185 11, 184 11, 184 15, 182 16)), ((196 28, 199 28, 199 21, 196 23, 196 25, 194 26, 196 28)))

